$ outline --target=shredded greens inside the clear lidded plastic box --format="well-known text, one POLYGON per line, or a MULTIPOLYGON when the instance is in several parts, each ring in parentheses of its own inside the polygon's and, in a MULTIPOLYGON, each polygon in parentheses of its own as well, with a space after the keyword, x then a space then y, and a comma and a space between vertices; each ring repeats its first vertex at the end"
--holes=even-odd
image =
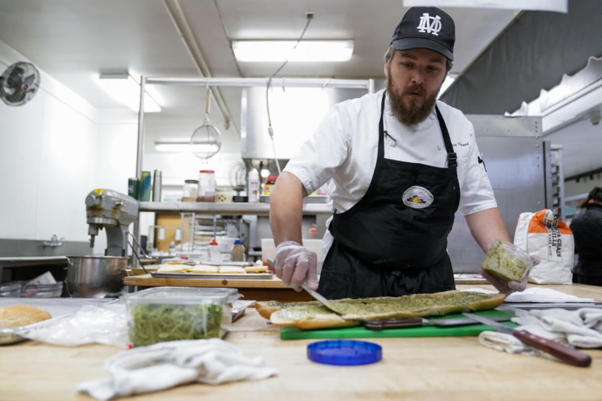
POLYGON ((220 337, 222 306, 140 303, 132 307, 129 338, 134 346, 160 341, 220 337))

